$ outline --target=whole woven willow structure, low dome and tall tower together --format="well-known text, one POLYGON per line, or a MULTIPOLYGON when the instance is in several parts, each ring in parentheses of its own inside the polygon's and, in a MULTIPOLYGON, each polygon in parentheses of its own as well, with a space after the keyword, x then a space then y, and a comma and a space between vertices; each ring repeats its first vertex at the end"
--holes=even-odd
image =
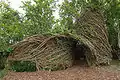
MULTIPOLYGON (((35 35, 12 45, 8 60, 31 61, 37 69, 59 70, 73 65, 72 47, 75 40, 84 44, 84 55, 91 65, 110 64, 111 47, 102 13, 88 8, 76 20, 76 34, 43 36, 35 35)), ((79 53, 83 54, 83 53, 79 53)))

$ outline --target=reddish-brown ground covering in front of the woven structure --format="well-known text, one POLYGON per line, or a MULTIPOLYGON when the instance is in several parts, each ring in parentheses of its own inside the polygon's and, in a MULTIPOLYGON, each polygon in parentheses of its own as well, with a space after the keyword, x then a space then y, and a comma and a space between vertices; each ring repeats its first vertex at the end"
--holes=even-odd
POLYGON ((3 80, 120 80, 119 69, 116 69, 115 66, 87 67, 75 65, 66 70, 53 72, 9 72, 3 80))

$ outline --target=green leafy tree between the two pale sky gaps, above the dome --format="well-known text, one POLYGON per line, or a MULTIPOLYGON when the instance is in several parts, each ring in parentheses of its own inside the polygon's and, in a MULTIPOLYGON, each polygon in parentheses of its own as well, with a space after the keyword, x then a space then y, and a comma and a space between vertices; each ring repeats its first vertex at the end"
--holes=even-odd
POLYGON ((48 33, 54 24, 53 0, 23 2, 25 10, 24 29, 28 35, 48 33))

